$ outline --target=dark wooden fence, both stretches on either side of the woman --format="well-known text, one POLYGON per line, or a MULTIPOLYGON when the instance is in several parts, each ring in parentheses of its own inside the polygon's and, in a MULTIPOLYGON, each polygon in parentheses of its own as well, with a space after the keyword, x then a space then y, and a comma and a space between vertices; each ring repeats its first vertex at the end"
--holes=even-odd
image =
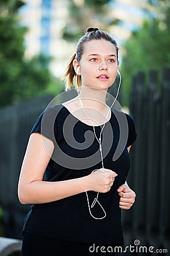
MULTIPOLYGON (((134 245, 134 240, 139 240, 141 246, 170 250, 170 69, 146 75, 139 72, 133 79, 130 114, 138 138, 130 152, 128 183, 137 198, 130 210, 122 210, 122 224, 125 245, 134 245)), ((29 131, 51 99, 52 96, 38 98, 0 110, 0 205, 6 237, 21 238, 29 205, 20 204, 17 196, 20 167, 29 131)))

